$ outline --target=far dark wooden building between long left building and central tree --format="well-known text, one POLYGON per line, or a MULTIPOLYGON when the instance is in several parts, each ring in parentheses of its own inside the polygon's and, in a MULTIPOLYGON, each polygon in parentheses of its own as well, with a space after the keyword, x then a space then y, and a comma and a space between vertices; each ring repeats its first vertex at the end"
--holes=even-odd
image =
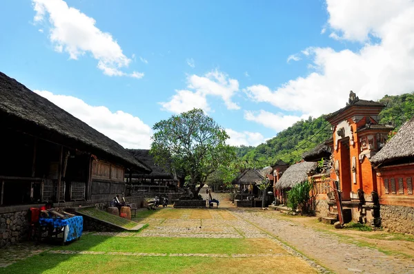
POLYGON ((142 193, 171 193, 177 192, 181 185, 184 184, 183 176, 177 176, 177 173, 168 170, 168 168, 155 165, 155 160, 150 154, 149 149, 127 149, 137 160, 144 162, 150 169, 151 173, 143 173, 137 170, 130 170, 125 173, 126 193, 130 195, 142 193))

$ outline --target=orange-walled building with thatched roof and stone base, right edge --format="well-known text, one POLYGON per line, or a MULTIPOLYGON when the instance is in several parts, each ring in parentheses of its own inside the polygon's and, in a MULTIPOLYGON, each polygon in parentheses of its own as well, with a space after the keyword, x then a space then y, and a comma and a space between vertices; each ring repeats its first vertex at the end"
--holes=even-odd
POLYGON ((371 159, 385 229, 414 234, 414 117, 371 159))

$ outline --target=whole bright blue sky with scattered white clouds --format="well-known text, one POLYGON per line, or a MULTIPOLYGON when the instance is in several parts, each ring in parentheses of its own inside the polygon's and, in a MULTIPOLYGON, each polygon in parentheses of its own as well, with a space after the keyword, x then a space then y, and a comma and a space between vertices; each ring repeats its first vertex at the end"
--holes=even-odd
POLYGON ((257 145, 342 107, 351 89, 373 100, 411 92, 413 10, 408 0, 4 1, 0 71, 124 147, 148 148, 154 123, 193 107, 231 144, 257 145))

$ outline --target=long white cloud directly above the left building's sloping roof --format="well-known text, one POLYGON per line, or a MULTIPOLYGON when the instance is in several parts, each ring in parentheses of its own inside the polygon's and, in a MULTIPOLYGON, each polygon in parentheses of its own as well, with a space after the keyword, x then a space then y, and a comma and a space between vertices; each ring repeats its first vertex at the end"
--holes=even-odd
POLYGON ((111 112, 107 107, 88 105, 79 98, 34 90, 55 105, 87 123, 126 148, 148 149, 152 129, 141 119, 126 112, 111 112))

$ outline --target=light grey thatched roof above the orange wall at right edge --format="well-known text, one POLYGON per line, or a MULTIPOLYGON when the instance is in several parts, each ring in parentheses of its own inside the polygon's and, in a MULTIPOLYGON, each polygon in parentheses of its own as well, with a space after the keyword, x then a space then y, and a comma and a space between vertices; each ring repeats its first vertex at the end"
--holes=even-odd
POLYGON ((375 165, 396 160, 414 161, 414 117, 402 125, 397 134, 371 158, 375 165))

